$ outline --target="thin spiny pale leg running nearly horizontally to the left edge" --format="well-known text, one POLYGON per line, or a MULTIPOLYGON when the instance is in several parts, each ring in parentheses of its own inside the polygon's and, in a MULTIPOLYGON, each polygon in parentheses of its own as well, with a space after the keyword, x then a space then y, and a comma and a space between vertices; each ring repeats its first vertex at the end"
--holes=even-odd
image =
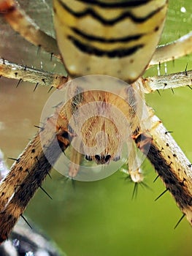
POLYGON ((28 81, 30 83, 36 83, 39 86, 54 86, 55 88, 59 88, 68 80, 68 78, 62 75, 45 72, 42 69, 23 67, 22 65, 14 64, 0 58, 1 75, 5 78, 28 81))

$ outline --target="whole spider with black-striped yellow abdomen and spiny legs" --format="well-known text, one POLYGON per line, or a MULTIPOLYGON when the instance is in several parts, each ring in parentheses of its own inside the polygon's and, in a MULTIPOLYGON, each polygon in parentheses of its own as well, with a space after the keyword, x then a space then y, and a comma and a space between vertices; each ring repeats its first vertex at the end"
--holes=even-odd
POLYGON ((148 67, 191 53, 192 34, 156 48, 167 0, 74 2, 53 1, 55 40, 16 1, 0 1, 7 23, 62 61, 69 74, 0 59, 0 75, 56 89, 42 111, 39 132, 1 181, 0 243, 52 167, 69 178, 94 181, 128 163, 135 195, 137 184, 146 187, 141 170, 146 157, 192 225, 191 162, 145 102, 153 91, 191 86, 192 71, 142 77, 148 67), (93 166, 84 167, 84 161, 93 166))

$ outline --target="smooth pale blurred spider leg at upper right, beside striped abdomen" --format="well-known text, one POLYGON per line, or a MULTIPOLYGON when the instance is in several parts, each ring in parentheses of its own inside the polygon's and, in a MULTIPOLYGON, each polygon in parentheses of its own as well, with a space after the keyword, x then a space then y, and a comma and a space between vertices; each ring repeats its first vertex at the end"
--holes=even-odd
POLYGON ((150 66, 172 61, 190 53, 192 53, 192 32, 167 45, 159 45, 150 61, 150 66))

